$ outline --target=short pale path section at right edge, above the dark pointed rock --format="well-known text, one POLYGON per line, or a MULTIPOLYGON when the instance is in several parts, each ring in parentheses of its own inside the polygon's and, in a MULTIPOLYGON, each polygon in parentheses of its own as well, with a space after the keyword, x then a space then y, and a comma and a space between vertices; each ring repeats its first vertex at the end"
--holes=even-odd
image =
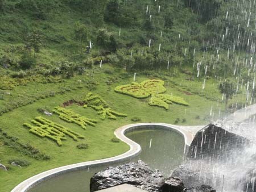
POLYGON ((229 115, 227 119, 233 120, 234 122, 242 122, 243 120, 249 119, 251 115, 256 114, 256 104, 241 108, 229 115))

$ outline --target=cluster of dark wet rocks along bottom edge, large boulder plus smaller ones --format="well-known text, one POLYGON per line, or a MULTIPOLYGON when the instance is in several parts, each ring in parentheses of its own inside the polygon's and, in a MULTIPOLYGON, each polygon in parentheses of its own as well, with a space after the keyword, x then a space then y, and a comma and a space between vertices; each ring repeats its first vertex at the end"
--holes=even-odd
POLYGON ((210 186, 189 186, 177 177, 164 178, 159 170, 151 170, 143 161, 109 167, 94 174, 90 180, 90 192, 122 184, 130 184, 150 192, 215 192, 210 186))

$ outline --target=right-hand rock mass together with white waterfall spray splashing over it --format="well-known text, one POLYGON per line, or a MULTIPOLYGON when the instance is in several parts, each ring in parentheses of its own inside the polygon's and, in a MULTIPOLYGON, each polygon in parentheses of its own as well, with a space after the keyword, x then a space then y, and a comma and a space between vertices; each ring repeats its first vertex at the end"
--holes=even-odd
POLYGON ((244 191, 249 192, 254 183, 254 180, 251 180, 254 172, 250 170, 251 174, 248 174, 245 166, 240 168, 240 166, 235 167, 234 164, 246 164, 247 168, 253 167, 250 165, 253 161, 246 161, 249 158, 246 151, 250 151, 248 147, 251 145, 247 137, 209 124, 197 132, 188 149, 187 160, 174 170, 172 177, 179 177, 185 187, 191 191, 213 190, 205 186, 193 189, 193 186, 200 186, 204 183, 206 186, 213 186, 218 191, 222 190, 222 187, 232 191, 238 187, 241 189, 241 186, 245 185, 247 189, 244 191), (247 178, 250 181, 246 181, 247 178))

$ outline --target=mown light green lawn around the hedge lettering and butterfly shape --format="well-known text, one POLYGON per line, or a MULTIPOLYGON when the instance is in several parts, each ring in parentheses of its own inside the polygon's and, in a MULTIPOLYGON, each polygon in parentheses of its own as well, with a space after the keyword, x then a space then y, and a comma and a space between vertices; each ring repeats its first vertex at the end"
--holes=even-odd
MULTIPOLYGON (((105 65, 104 68, 111 67, 105 65)), ((147 104, 149 98, 136 99, 128 95, 115 93, 115 86, 130 83, 133 81, 133 77, 119 78, 119 73, 114 72, 114 74, 106 74, 104 73, 104 69, 90 70, 84 74, 84 76, 75 76, 67 80, 65 83, 36 84, 34 82, 28 84, 27 86, 15 87, 13 90, 10 90, 13 95, 6 95, 5 100, 1 101, 0 104, 3 105, 5 102, 15 102, 16 100, 19 100, 20 97, 22 97, 20 93, 33 95, 44 93, 49 90, 62 89, 64 86, 75 87, 74 85, 77 85, 78 80, 81 80, 86 76, 88 77, 88 74, 92 72, 94 72, 94 80, 99 83, 97 89, 93 90, 92 92, 94 94, 101 95, 114 110, 126 113, 128 115, 127 118, 118 117, 117 120, 100 120, 100 115, 97 115, 97 111, 92 110, 92 108, 82 108, 81 106, 77 105, 69 106, 68 108, 72 108, 73 111, 81 115, 98 120, 96 127, 88 126, 87 130, 82 130, 81 127, 74 123, 64 122, 63 120, 59 119, 57 115, 46 117, 37 111, 39 107, 47 106, 48 108, 52 109, 53 107, 60 105, 69 99, 82 98, 83 95, 89 92, 88 88, 86 87, 76 88, 65 92, 65 94, 57 94, 54 97, 38 99, 30 105, 19 107, 13 111, 3 114, 0 116, 0 127, 4 131, 11 136, 19 137, 19 141, 22 143, 30 143, 40 151, 51 156, 51 160, 34 160, 14 151, 11 148, 3 146, 2 153, 0 153, 0 160, 2 164, 7 165, 8 160, 12 158, 22 158, 30 161, 31 165, 27 168, 17 168, 9 165, 10 170, 8 172, 0 170, 0 183, 2 183, 0 187, 1 192, 10 191, 19 182, 22 182, 26 178, 48 169, 77 162, 112 157, 126 152, 129 149, 126 144, 113 143, 111 139, 114 136, 113 132, 115 129, 125 124, 134 123, 131 121, 131 118, 138 117, 141 119, 141 122, 161 122, 171 124, 174 124, 175 120, 180 118, 180 122, 178 124, 201 125, 208 123, 207 119, 209 119, 211 107, 213 107, 213 112, 216 117, 219 109, 223 110, 224 107, 222 103, 211 101, 205 97, 201 97, 200 95, 188 94, 185 92, 185 90, 187 90, 186 87, 177 86, 174 84, 173 81, 185 81, 184 76, 166 76, 165 86, 167 88, 167 94, 173 94, 175 96, 184 98, 185 101, 189 103, 189 107, 173 104, 170 106, 168 111, 164 108, 152 107, 147 104), (110 77, 117 77, 117 80, 112 85, 106 85, 106 81, 108 81, 110 77), (28 129, 23 127, 22 124, 25 122, 30 123, 30 120, 39 115, 42 115, 54 122, 60 123, 65 127, 71 128, 73 131, 81 133, 85 136, 85 141, 76 142, 71 138, 68 138, 66 141, 63 141, 63 146, 58 147, 54 141, 46 138, 40 139, 40 137, 29 133, 28 129), (198 116, 200 116, 200 118, 198 118, 198 116), (89 148, 82 150, 77 149, 76 145, 81 142, 88 143, 89 148)), ((137 82, 147 80, 148 78, 152 78, 152 76, 143 76, 138 74, 137 82)), ((189 90, 199 89, 199 83, 196 81, 189 81, 187 84, 190 85, 189 90)), ((218 93, 217 86, 215 88, 214 86, 211 86, 211 88, 215 89, 215 94, 218 93)), ((212 93, 212 91, 210 93, 212 93)), ((205 93, 207 94, 207 91, 205 91, 205 93)), ((219 94, 218 97, 221 97, 221 95, 219 94)))

